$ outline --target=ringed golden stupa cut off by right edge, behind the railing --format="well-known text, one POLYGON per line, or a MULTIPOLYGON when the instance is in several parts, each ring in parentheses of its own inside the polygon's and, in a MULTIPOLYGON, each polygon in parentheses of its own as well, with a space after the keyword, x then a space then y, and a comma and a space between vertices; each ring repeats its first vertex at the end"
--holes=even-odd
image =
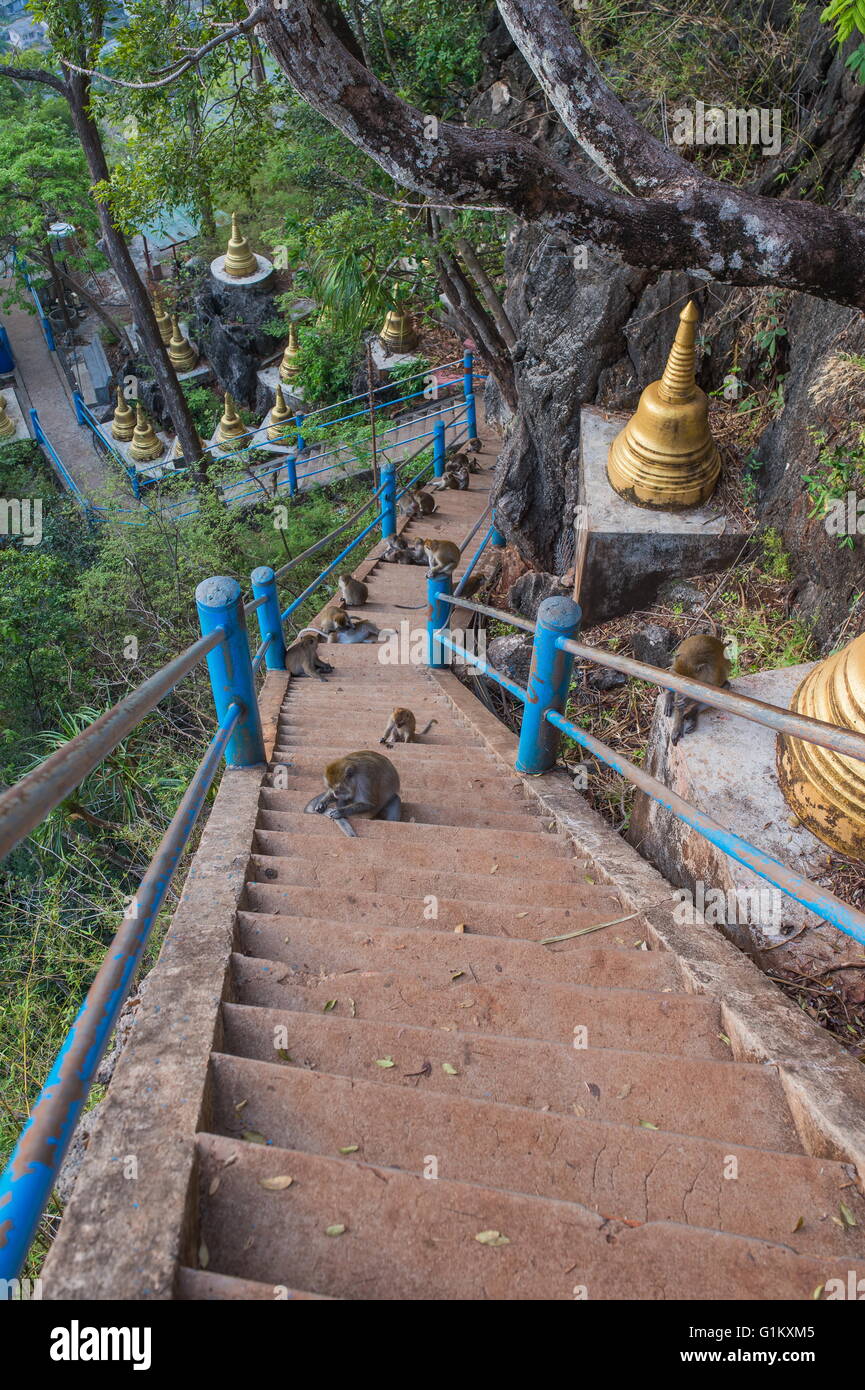
MULTIPOLYGON (((815 666, 790 709, 865 734, 865 634, 815 666)), ((779 734, 777 776, 808 830, 840 853, 865 859, 865 762, 779 734)))

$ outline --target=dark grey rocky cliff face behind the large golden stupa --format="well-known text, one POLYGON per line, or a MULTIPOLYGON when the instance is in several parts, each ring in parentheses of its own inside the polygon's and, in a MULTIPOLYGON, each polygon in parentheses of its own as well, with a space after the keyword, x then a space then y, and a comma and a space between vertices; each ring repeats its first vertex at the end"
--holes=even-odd
MULTIPOLYGON (((832 202, 861 158, 865 88, 851 79, 830 49, 827 31, 818 24, 819 10, 819 4, 812 6, 802 21, 814 42, 802 74, 808 114, 801 147, 766 161, 761 186, 769 188, 783 174, 794 196, 807 197, 820 186, 832 202)), ((490 125, 519 121, 523 133, 549 143, 558 157, 591 174, 569 136, 548 118, 537 85, 501 24, 487 36, 485 56, 484 90, 470 120, 490 125)), ((496 516, 528 564, 563 574, 573 562, 580 407, 636 406, 641 388, 663 370, 688 295, 697 296, 704 313, 704 389, 719 386, 733 360, 747 379, 754 354, 752 316, 743 291, 686 272, 636 271, 602 247, 579 247, 526 225, 510 234, 506 282, 505 304, 517 332, 519 411, 508 417, 495 384, 488 385, 488 414, 501 421, 505 434, 496 516)), ((865 588, 864 542, 841 549, 822 521, 808 518, 814 503, 805 475, 819 456, 814 431, 837 431, 846 409, 829 391, 827 374, 839 353, 862 353, 865 328, 857 311, 808 296, 784 296, 782 316, 789 377, 783 410, 755 450, 763 463, 758 512, 763 524, 780 531, 791 553, 801 614, 815 621, 818 641, 829 642, 851 598, 865 588)), ((846 379, 854 375, 848 373, 846 379)), ((861 409, 858 418, 864 418, 861 409)))

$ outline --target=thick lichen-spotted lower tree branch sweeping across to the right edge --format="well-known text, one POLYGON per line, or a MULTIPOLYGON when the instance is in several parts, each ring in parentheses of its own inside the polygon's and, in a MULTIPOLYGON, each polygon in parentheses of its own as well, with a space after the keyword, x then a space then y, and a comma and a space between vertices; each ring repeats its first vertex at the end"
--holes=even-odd
MULTIPOLYGON (((865 309, 859 218, 704 178, 677 179, 674 195, 662 197, 602 189, 512 132, 424 117, 346 51, 316 0, 271 6, 261 33, 288 79, 403 186, 434 202, 515 213, 617 252, 630 265, 702 270, 736 285, 779 285, 865 309)), ((545 3, 541 13, 547 24, 558 10, 545 3)), ((640 157, 636 142, 633 157, 640 157)))

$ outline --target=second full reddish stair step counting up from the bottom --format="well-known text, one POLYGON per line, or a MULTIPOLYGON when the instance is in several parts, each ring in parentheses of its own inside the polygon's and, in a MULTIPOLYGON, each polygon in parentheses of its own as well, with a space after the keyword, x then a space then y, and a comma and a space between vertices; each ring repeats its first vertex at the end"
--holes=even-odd
POLYGON ((246 1129, 277 1148, 330 1158, 357 1145, 357 1159, 412 1173, 421 1173, 434 1152, 442 1177, 580 1202, 612 1220, 684 1220, 800 1252, 864 1254, 865 1200, 850 1165, 830 1159, 223 1054, 213 1058, 213 1076, 211 1126, 229 1138, 246 1129), (841 1201, 858 1227, 832 1219, 841 1201))

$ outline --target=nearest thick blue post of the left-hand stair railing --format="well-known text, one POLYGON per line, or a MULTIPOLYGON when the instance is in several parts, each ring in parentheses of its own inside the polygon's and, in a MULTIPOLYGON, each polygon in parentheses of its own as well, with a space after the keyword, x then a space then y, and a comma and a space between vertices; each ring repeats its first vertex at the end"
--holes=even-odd
POLYGON ((242 709, 241 719, 225 745, 225 762, 229 767, 252 767, 263 763, 261 716, 249 656, 241 585, 228 575, 202 580, 195 591, 195 602, 202 637, 207 637, 217 627, 225 632, 220 645, 207 653, 217 720, 224 719, 229 705, 239 705, 242 709))

